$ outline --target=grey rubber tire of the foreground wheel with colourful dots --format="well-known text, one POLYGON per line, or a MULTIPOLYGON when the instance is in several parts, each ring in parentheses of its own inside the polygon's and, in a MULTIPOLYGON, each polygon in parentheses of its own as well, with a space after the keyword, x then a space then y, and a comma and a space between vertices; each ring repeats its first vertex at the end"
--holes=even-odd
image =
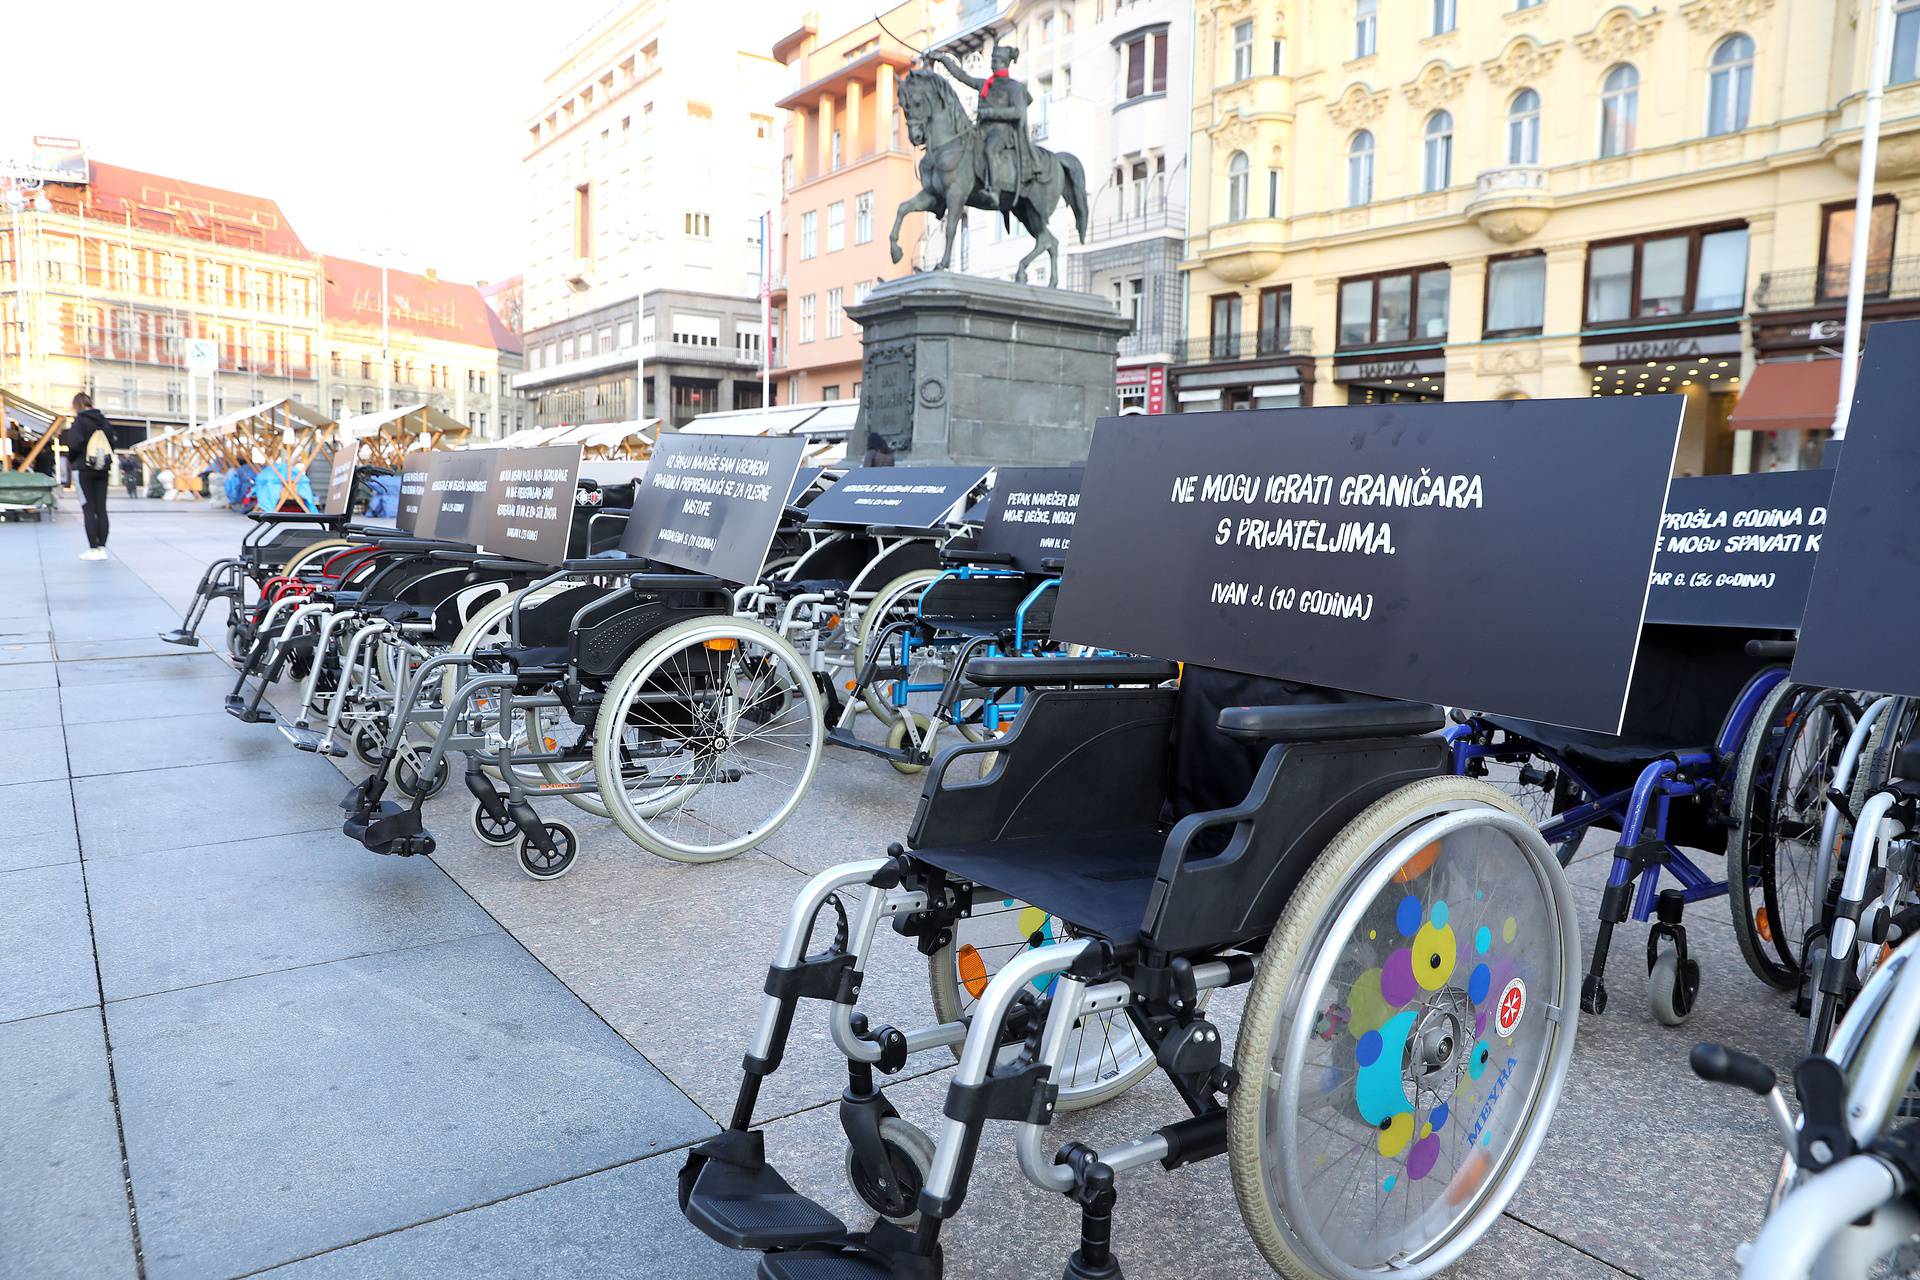
MULTIPOLYGON (((1308 867, 1308 873, 1286 900, 1286 910, 1281 912, 1281 923, 1267 936, 1260 971, 1254 973, 1252 988, 1246 994, 1246 1009, 1240 1015, 1240 1036, 1233 1054, 1235 1067, 1242 1071, 1242 1082, 1227 1102, 1227 1167, 1233 1176, 1235 1199, 1240 1205, 1240 1221, 1246 1224, 1248 1236, 1254 1238, 1254 1245, 1265 1255, 1273 1270, 1290 1280, 1327 1280, 1327 1274, 1313 1261, 1294 1251, 1290 1232, 1267 1205, 1265 1188, 1260 1184, 1256 1173, 1263 1159, 1260 1103, 1265 1090, 1261 1088, 1261 1080, 1244 1073, 1254 1063, 1261 1063, 1260 1073, 1261 1077, 1265 1075, 1267 1046, 1273 1042, 1279 1021, 1286 1011, 1286 998, 1292 994, 1290 988, 1296 984, 1296 977, 1304 975, 1304 965, 1311 965, 1313 961, 1313 956, 1306 948, 1313 942, 1313 933, 1325 913, 1336 910, 1340 902, 1338 890, 1346 877, 1365 858, 1379 852, 1382 841, 1405 825, 1402 814, 1450 800, 1476 800, 1488 808, 1505 810, 1532 825, 1526 812, 1507 793, 1492 783, 1469 777, 1427 777, 1390 791, 1342 827, 1334 841, 1308 867)), ((1557 860, 1551 856, 1548 860, 1557 865, 1557 860)), ((1563 963, 1578 967, 1578 946, 1563 963)), ((1571 1036, 1576 1031, 1576 1019, 1572 1019, 1571 1011, 1565 1027, 1563 1034, 1571 1036)), ((1548 1125, 1551 1119, 1551 1113, 1548 1113, 1534 1123, 1548 1125)), ((1507 1196, 1511 1197, 1511 1192, 1507 1196)), ((1394 1274, 1415 1278, 1432 1272, 1409 1267, 1405 1272, 1396 1270, 1394 1274)))

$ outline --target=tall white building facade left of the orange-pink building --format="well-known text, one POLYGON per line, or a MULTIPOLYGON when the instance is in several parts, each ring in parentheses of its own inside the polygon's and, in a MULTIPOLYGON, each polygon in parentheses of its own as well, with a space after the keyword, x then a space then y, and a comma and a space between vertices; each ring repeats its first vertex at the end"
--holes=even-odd
POLYGON ((776 8, 747 0, 716 21, 693 0, 637 0, 545 77, 524 161, 528 426, 682 426, 760 403, 785 92, 766 52, 776 8))

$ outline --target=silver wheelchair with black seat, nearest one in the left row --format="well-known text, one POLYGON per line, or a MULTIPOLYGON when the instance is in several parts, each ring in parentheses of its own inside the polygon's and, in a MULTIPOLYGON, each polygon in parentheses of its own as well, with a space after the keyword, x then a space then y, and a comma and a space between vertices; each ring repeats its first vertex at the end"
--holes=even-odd
POLYGON ((382 854, 432 852, 422 804, 461 752, 474 833, 518 844, 534 879, 578 856, 574 829, 540 818, 534 798, 612 818, 678 862, 770 837, 820 762, 814 677, 780 635, 733 614, 733 583, 662 568, 574 558, 470 614, 407 672, 374 773, 342 802, 344 831, 382 854), (415 731, 426 745, 409 745, 415 731), (390 783, 409 800, 386 800, 390 783))

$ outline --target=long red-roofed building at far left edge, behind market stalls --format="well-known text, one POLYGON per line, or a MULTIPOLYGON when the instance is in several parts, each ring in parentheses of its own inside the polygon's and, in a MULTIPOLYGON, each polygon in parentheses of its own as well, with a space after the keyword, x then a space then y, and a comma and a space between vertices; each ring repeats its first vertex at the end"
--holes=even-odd
POLYGON ((0 209, 0 384, 150 428, 315 403, 321 263, 275 201, 98 161, 40 194, 0 209), (219 353, 194 403, 188 338, 219 353))

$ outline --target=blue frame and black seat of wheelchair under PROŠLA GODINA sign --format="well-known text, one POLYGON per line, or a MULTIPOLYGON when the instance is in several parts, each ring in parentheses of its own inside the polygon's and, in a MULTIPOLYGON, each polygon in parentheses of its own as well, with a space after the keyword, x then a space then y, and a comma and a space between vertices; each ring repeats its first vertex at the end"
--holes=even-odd
MULTIPOLYGON (((1728 894, 1730 885, 1684 848, 1726 854, 1728 833, 1751 812, 1749 806, 1736 818, 1734 798, 1751 794, 1761 785, 1755 779, 1770 785, 1770 768, 1764 777, 1759 771, 1761 752, 1774 747, 1776 754, 1799 706, 1782 664, 1791 652, 1791 641, 1749 641, 1728 628, 1649 624, 1619 735, 1488 714, 1463 716, 1448 729, 1453 771, 1500 781, 1540 823, 1563 865, 1586 831, 1620 833, 1601 894, 1594 960, 1580 988, 1582 1011, 1607 1007, 1613 931, 1626 919, 1651 919, 1653 1017, 1676 1027, 1692 1015, 1699 961, 1688 954, 1686 906, 1728 894), (1676 885, 1663 889, 1663 873, 1676 885)), ((1824 750, 1834 729, 1828 720, 1820 725, 1824 750)), ((1745 904, 1757 864, 1736 864, 1745 904)), ((1759 879, 1764 892, 1768 881, 1759 879)), ((1793 923, 1784 902, 1774 917, 1782 938, 1805 921, 1805 904, 1793 906, 1799 912, 1793 923)), ((1776 956, 1776 963, 1788 961, 1776 956)))

